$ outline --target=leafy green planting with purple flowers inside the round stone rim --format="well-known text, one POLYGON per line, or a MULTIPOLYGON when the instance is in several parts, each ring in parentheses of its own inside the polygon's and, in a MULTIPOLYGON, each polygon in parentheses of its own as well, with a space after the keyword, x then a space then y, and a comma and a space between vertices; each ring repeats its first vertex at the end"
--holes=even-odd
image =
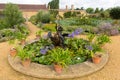
POLYGON ((72 33, 63 34, 67 35, 66 37, 61 37, 59 31, 54 36, 48 33, 46 37, 26 44, 24 48, 17 48, 17 55, 23 61, 30 59, 29 61, 43 65, 57 64, 62 68, 85 62, 95 55, 101 56, 101 46, 110 42, 109 37, 95 34, 89 34, 87 39, 74 37, 81 32, 82 29, 77 29, 72 33))

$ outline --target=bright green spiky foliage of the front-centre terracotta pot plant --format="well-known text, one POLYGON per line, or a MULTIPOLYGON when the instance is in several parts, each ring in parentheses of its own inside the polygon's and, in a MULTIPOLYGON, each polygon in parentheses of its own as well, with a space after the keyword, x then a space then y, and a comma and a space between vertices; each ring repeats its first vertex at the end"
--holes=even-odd
POLYGON ((69 49, 64 50, 63 48, 54 48, 49 51, 49 54, 51 54, 52 62, 62 65, 63 67, 72 63, 72 52, 69 51, 69 49))

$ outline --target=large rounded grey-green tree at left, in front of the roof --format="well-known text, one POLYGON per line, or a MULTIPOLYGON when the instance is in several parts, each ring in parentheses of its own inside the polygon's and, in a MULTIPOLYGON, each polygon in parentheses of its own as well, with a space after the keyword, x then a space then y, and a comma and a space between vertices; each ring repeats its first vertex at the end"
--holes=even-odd
POLYGON ((3 10, 5 15, 5 21, 7 26, 14 28, 14 25, 21 24, 24 22, 22 12, 19 10, 18 6, 12 3, 8 3, 3 10))

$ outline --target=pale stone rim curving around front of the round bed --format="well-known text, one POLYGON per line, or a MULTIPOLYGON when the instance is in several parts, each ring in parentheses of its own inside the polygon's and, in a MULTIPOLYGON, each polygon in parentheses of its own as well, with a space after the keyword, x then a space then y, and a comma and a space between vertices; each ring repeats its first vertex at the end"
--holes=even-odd
POLYGON ((46 79, 68 79, 82 77, 102 69, 107 63, 108 58, 109 55, 106 53, 102 55, 102 60, 99 64, 86 61, 81 64, 70 65, 67 69, 63 70, 61 74, 57 74, 52 65, 47 66, 31 63, 28 68, 25 68, 22 66, 21 60, 18 57, 13 58, 10 55, 8 55, 8 62, 14 70, 29 76, 46 79))

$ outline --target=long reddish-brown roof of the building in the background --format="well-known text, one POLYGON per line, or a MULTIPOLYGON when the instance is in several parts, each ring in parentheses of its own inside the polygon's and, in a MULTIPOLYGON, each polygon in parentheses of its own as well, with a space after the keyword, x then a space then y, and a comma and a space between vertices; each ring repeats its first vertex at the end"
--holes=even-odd
MULTIPOLYGON (((0 4, 0 10, 5 8, 6 4, 0 4)), ((46 4, 43 5, 33 5, 33 4, 17 4, 22 11, 39 11, 47 10, 46 4)))

